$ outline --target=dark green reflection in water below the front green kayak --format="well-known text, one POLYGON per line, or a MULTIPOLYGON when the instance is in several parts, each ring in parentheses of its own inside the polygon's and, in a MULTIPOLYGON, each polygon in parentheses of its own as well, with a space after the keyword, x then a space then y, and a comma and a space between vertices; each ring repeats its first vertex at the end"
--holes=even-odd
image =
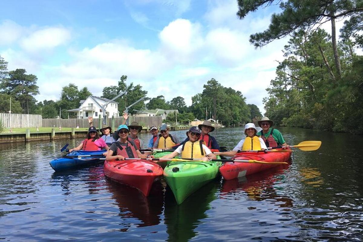
POLYGON ((197 235, 195 230, 207 218, 206 211, 211 209, 210 203, 217 198, 219 186, 219 180, 213 180, 179 205, 171 189, 167 187, 164 211, 167 241, 188 241, 197 235))

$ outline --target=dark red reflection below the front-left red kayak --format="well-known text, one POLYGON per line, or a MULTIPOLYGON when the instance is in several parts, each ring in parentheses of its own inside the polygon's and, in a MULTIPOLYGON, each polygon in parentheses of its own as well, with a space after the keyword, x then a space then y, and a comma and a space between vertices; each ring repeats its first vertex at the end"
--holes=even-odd
MULTIPOLYGON (((164 191, 160 182, 155 182, 150 196, 145 197, 138 189, 106 180, 106 190, 110 192, 115 205, 120 209, 119 216, 123 219, 136 218, 140 222, 137 227, 158 225, 163 213, 164 191)), ((127 231, 127 228, 122 230, 127 231)))

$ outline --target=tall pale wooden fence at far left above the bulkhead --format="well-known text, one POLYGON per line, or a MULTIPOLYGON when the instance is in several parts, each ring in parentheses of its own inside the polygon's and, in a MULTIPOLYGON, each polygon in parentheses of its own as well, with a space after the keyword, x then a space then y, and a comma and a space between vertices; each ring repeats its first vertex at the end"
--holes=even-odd
POLYGON ((5 128, 42 127, 42 115, 0 113, 5 128))

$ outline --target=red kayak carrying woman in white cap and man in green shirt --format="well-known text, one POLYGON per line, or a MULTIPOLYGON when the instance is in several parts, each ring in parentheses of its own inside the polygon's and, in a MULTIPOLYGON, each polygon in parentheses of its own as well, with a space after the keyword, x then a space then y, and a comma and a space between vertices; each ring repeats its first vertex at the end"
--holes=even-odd
MULTIPOLYGON (((281 150, 274 149, 273 151, 281 150)), ((258 161, 281 161, 287 162, 290 160, 291 149, 285 149, 281 152, 240 152, 237 153, 232 159, 235 160, 258 160, 258 161)), ((219 172, 226 180, 231 180, 237 177, 243 177, 256 172, 260 172, 280 164, 259 164, 259 163, 238 163, 226 162, 219 168, 219 172)))

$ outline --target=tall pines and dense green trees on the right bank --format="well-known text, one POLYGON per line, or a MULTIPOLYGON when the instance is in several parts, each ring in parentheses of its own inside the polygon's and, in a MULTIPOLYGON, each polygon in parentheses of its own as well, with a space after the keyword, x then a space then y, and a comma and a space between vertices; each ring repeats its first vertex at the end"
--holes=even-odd
MULTIPOLYGON (((273 0, 238 0, 237 16, 266 8, 273 0)), ((268 29, 250 35, 262 47, 290 36, 264 98, 266 115, 277 125, 363 133, 362 0, 280 2, 268 29), (346 18, 337 40, 335 22, 346 18), (331 34, 319 28, 329 22, 331 34)))

